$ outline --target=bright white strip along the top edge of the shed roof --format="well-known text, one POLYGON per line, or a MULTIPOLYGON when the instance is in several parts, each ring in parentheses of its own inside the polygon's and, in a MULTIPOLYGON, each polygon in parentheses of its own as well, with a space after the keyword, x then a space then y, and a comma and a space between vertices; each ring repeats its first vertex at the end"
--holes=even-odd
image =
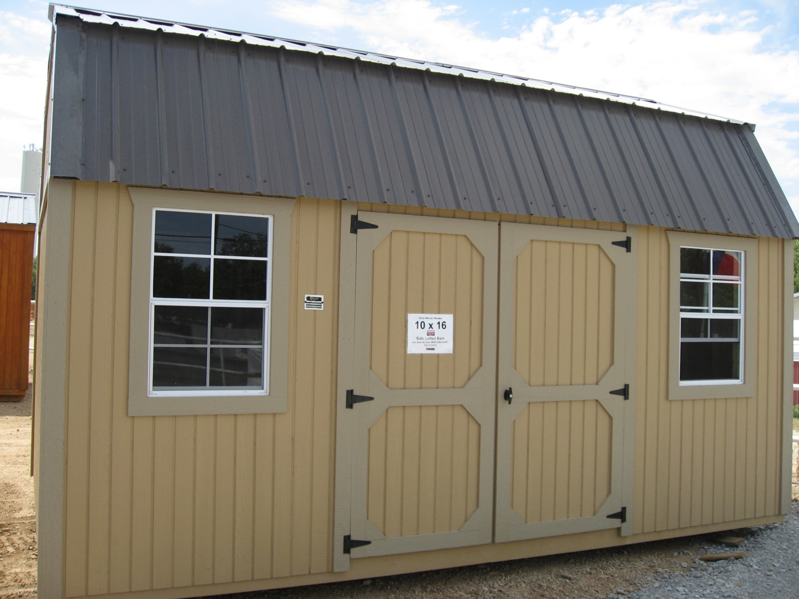
POLYGON ((663 104, 662 102, 650 100, 645 97, 629 96, 624 93, 606 92, 602 91, 601 89, 590 89, 586 87, 578 87, 576 85, 566 85, 562 83, 555 83, 555 81, 543 81, 540 79, 531 79, 530 77, 506 75, 503 73, 494 73, 492 71, 480 69, 470 69, 465 66, 445 65, 441 62, 428 62, 415 60, 413 58, 400 58, 396 56, 388 56, 386 54, 376 54, 374 52, 364 52, 362 50, 341 48, 339 46, 328 46, 327 44, 315 44, 312 42, 300 42, 287 38, 276 38, 271 35, 248 34, 242 31, 221 30, 215 29, 213 27, 173 22, 157 18, 137 17, 132 14, 105 12, 102 10, 86 9, 78 6, 50 4, 48 15, 50 21, 55 22, 56 14, 65 14, 70 17, 77 17, 82 21, 89 23, 101 23, 103 25, 117 24, 121 27, 133 27, 135 29, 144 29, 150 31, 163 30, 165 33, 193 35, 195 37, 205 35, 206 38, 225 40, 227 42, 241 42, 244 40, 244 42, 252 44, 252 46, 268 46, 272 48, 280 48, 280 46, 284 46, 286 50, 300 50, 302 52, 311 52, 312 54, 318 54, 321 52, 326 56, 338 56, 342 58, 360 58, 362 61, 376 62, 383 65, 393 64, 396 66, 405 67, 407 69, 430 69, 433 73, 463 75, 463 77, 470 77, 472 79, 501 81, 503 83, 524 85, 536 89, 551 89, 556 92, 571 93, 586 97, 596 97, 602 100, 622 102, 622 104, 628 105, 640 105, 642 107, 651 109, 662 109, 670 113, 682 113, 689 114, 694 117, 706 117, 717 121, 735 123, 737 125, 748 124, 753 130, 755 127, 755 125, 752 123, 746 123, 745 121, 737 121, 733 118, 720 117, 717 114, 703 113, 698 110, 685 109, 680 108, 679 106, 663 104))

